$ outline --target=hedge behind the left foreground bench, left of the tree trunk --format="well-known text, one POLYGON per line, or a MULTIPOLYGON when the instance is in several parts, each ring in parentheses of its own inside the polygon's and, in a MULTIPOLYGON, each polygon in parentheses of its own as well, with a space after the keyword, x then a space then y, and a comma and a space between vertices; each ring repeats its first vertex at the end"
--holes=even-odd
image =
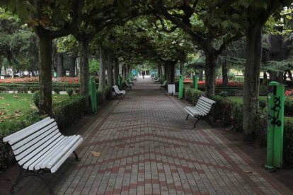
POLYGON ((25 114, 24 120, 11 124, 7 129, 4 128, 0 130, 0 170, 5 170, 12 164, 11 162, 14 162, 11 146, 9 146, 8 143, 4 143, 2 141, 3 138, 16 131, 24 129, 26 126, 30 126, 43 118, 45 118, 45 116, 40 116, 38 112, 28 112, 25 114))

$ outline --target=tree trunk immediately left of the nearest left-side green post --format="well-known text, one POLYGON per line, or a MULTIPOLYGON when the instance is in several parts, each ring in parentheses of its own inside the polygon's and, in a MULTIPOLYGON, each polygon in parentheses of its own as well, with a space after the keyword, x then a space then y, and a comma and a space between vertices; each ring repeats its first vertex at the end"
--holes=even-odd
POLYGON ((88 40, 86 38, 80 40, 80 81, 81 95, 86 97, 86 107, 89 109, 88 93, 89 93, 89 68, 88 68, 88 40))

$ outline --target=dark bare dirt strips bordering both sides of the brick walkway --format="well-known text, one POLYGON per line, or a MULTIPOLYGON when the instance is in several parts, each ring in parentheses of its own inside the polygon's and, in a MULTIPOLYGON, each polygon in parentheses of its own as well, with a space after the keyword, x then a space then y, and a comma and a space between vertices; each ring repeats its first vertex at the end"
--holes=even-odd
MULTIPOLYGON (((85 129, 84 127, 91 124, 91 120, 94 119, 96 114, 88 114, 81 119, 76 124, 73 124, 69 129, 65 129, 64 134, 70 130, 71 134, 74 134, 79 131, 79 129, 85 129)), ((265 154, 266 148, 261 148, 258 144, 250 144, 246 145, 243 143, 242 135, 231 131, 229 129, 219 128, 217 131, 228 138, 234 146, 239 147, 243 150, 246 155, 250 156, 257 164, 263 166, 265 164, 265 154)), ((275 177, 275 179, 279 180, 285 186, 287 186, 293 194, 293 169, 284 167, 282 170, 271 171, 270 174, 275 177)), ((11 189, 13 182, 16 180, 18 175, 18 167, 17 165, 13 165, 5 172, 0 172, 0 194, 9 194, 9 190, 11 189)))

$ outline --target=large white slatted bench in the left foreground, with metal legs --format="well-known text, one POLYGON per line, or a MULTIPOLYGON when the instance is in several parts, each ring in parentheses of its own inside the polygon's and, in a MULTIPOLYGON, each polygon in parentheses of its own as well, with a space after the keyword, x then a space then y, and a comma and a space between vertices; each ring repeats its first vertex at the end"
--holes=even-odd
POLYGON ((79 135, 63 136, 55 120, 47 117, 6 136, 3 141, 11 146, 20 167, 18 178, 11 189, 13 194, 21 179, 29 176, 40 177, 52 193, 52 188, 44 177, 45 173, 56 172, 71 153, 79 160, 75 150, 83 138, 79 135))

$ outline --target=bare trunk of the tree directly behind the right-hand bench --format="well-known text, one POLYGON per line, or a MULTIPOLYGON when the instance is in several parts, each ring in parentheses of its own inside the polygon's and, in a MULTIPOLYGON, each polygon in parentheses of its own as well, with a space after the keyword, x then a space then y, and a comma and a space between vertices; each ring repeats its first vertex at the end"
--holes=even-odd
POLYGON ((214 95, 216 83, 217 56, 213 52, 205 52, 205 95, 214 95))

